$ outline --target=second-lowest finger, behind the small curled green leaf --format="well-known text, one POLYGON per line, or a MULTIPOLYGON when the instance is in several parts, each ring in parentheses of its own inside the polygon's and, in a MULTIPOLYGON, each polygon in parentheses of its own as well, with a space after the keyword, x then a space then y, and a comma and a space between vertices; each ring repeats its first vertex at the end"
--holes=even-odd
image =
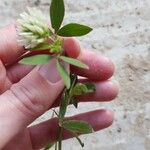
MULTIPOLYGON (((81 81, 80 81, 81 82, 81 81)), ((82 83, 91 83, 95 85, 95 92, 90 94, 84 94, 82 96, 77 96, 76 100, 78 102, 105 102, 105 101, 111 101, 115 99, 119 92, 119 86, 116 81, 99 81, 99 82, 92 82, 90 80, 82 80, 82 83)), ((54 102, 54 104, 51 106, 58 107, 60 104, 60 97, 57 98, 57 100, 54 102)))

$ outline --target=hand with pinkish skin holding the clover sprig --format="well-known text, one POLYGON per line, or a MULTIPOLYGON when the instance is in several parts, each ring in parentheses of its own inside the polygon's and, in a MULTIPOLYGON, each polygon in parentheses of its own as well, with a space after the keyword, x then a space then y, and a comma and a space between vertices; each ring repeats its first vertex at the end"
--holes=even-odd
MULTIPOLYGON (((56 118, 28 127, 49 108, 58 106, 64 83, 55 68, 55 60, 43 66, 12 64, 24 49, 17 44, 14 25, 0 30, 0 149, 38 150, 58 135, 56 118), (11 64, 10 67, 6 67, 11 64)), ((110 80, 114 65, 108 58, 81 50, 74 38, 64 38, 64 50, 70 57, 82 60, 89 70, 70 66, 70 71, 86 77, 79 82, 91 82, 96 92, 78 99, 82 102, 111 101, 118 94, 118 85, 110 80)), ((66 64, 69 70, 69 66, 66 64)), ((95 131, 110 126, 113 112, 107 109, 94 110, 67 119, 88 121, 95 131)), ((64 139, 72 135, 64 131, 64 139)))

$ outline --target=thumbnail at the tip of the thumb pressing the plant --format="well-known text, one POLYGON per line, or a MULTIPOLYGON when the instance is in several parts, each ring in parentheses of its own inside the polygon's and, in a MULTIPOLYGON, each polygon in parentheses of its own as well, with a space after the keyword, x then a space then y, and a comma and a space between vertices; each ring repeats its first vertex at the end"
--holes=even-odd
POLYGON ((56 68, 56 59, 39 67, 39 73, 51 83, 57 83, 61 77, 56 68))

